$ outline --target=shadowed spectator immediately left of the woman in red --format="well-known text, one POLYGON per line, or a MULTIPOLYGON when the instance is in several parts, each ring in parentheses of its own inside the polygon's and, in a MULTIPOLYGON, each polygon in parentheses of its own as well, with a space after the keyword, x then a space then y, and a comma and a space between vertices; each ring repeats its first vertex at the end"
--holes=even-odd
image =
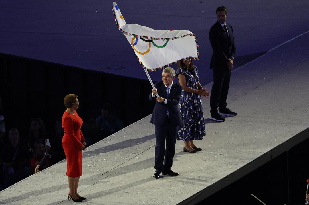
POLYGON ((53 156, 50 158, 51 165, 56 164, 66 158, 62 147, 62 137, 64 135, 64 130, 62 127, 61 119, 58 119, 55 123, 55 132, 56 134, 54 137, 49 138, 50 145, 52 146, 50 154, 53 156))

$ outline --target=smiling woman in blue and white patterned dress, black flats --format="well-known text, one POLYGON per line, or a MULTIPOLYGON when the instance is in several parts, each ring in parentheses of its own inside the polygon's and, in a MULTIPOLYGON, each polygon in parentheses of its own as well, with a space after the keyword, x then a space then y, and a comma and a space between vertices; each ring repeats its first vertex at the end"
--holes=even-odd
POLYGON ((178 62, 176 76, 183 87, 179 104, 183 123, 180 125, 177 140, 184 141, 184 152, 196 153, 202 149, 197 148, 193 141, 202 140, 206 135, 201 96, 206 98, 210 94, 198 82, 197 68, 191 58, 178 62))

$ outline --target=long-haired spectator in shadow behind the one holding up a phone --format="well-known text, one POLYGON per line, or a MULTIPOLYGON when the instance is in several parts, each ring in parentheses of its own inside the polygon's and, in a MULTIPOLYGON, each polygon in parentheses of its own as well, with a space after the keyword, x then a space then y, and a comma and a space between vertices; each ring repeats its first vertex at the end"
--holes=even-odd
POLYGON ((33 153, 33 144, 38 140, 45 144, 45 139, 48 139, 48 137, 43 121, 38 117, 32 118, 28 138, 26 139, 29 150, 33 153))

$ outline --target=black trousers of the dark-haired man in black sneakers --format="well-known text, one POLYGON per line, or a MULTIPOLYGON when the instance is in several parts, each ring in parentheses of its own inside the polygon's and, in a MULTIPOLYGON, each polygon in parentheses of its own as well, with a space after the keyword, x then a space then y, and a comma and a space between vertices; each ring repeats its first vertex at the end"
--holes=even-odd
POLYGON ((229 92, 231 71, 226 69, 214 71, 214 84, 210 93, 210 109, 212 112, 218 112, 217 108, 226 109, 226 98, 229 92))

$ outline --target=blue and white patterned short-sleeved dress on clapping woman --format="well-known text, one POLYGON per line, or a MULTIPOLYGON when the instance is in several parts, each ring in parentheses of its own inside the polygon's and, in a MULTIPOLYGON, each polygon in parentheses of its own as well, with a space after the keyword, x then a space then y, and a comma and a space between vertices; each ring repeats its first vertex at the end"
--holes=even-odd
MULTIPOLYGON (((199 78, 195 66, 193 71, 190 71, 188 68, 178 68, 176 76, 178 77, 179 74, 185 76, 188 87, 198 89, 197 82, 199 78)), ((201 96, 197 93, 183 90, 181 92, 179 109, 183 123, 180 125, 177 140, 202 140, 203 136, 206 135, 206 131, 201 96)))

